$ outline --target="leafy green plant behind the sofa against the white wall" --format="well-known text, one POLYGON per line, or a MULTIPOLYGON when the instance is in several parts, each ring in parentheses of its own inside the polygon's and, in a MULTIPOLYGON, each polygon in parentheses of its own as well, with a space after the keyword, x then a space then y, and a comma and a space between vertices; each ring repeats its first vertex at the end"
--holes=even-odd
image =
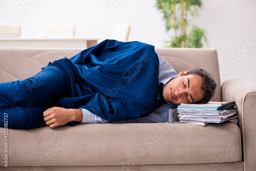
POLYGON ((166 47, 202 48, 207 43, 205 30, 188 25, 188 20, 198 15, 201 0, 157 0, 156 7, 163 13, 167 32, 174 34, 172 40, 166 41, 166 47))

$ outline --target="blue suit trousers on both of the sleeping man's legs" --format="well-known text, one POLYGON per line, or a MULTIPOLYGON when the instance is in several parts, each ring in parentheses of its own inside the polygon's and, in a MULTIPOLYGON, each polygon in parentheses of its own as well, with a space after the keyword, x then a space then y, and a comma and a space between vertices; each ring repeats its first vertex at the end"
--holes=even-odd
POLYGON ((0 126, 33 129, 45 126, 43 112, 70 93, 70 77, 57 67, 14 82, 0 83, 0 126))

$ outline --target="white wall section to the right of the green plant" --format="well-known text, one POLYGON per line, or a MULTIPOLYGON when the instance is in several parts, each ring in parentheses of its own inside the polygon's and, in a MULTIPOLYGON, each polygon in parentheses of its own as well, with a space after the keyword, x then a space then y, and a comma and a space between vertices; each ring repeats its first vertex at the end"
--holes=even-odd
POLYGON ((193 23, 208 32, 209 47, 219 55, 221 80, 256 81, 256 1, 205 1, 193 23))

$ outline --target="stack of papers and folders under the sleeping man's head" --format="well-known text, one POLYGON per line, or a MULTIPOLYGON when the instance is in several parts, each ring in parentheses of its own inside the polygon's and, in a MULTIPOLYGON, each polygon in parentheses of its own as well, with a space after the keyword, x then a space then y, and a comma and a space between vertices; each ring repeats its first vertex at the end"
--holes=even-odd
POLYGON ((207 123, 222 123, 237 118, 236 103, 208 102, 206 104, 180 104, 177 107, 179 122, 205 125, 207 123))

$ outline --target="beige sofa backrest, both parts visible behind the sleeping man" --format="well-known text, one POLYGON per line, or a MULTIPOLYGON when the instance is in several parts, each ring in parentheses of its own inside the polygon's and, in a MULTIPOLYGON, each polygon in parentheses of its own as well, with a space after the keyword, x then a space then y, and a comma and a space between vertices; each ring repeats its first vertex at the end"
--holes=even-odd
MULTIPOLYGON (((0 48, 0 82, 23 80, 38 73, 48 62, 66 56, 71 58, 83 49, 0 48)), ((156 48, 156 52, 170 63, 177 73, 201 68, 217 82, 212 101, 221 101, 218 54, 215 49, 156 48)))

